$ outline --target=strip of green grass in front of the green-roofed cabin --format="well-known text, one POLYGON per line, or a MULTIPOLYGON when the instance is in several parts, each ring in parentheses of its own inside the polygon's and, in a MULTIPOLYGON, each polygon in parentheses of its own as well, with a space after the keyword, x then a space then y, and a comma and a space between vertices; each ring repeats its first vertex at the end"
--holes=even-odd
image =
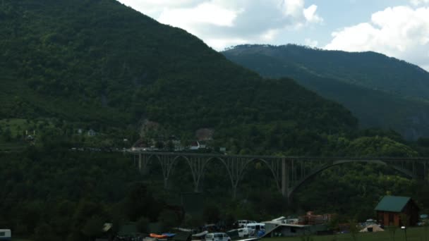
MULTIPOLYGON (((429 241, 429 228, 409 228, 406 230, 397 229, 394 235, 394 241, 429 241)), ((313 241, 354 241, 350 234, 326 235, 326 236, 312 236, 313 241)), ((265 238, 264 241, 302 241, 301 237, 270 237, 265 238)), ((357 241, 393 241, 389 231, 377 233, 358 233, 356 236, 357 241)), ((307 240, 306 240, 307 241, 307 240)))

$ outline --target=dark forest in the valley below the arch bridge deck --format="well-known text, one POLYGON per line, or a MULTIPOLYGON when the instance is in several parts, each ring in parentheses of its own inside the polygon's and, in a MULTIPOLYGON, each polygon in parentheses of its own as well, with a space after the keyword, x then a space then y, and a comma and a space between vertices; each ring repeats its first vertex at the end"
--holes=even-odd
MULTIPOLYGON (((373 149, 373 144, 367 142, 367 148, 373 149)), ((378 152, 373 149, 373 153, 378 152)), ((409 148, 401 151, 402 156, 413 154, 409 148)), ((29 147, 0 158, 4 166, 0 226, 37 241, 91 240, 105 235, 104 223, 113 223, 113 232, 129 222, 138 223, 142 233, 165 232, 174 226, 198 228, 205 223, 230 227, 238 219, 266 221, 309 210, 338 214, 342 222, 364 221, 374 217, 373 208, 385 194, 411 196, 422 211, 428 211, 429 203, 427 182, 371 163, 327 169, 301 187, 292 202, 282 197, 260 162, 247 168, 232 199, 224 168, 212 164, 201 192, 186 201, 183 194, 193 192, 193 183, 184 162, 177 164, 164 190, 156 163, 143 175, 132 156, 121 153, 72 152, 58 144, 29 147)))

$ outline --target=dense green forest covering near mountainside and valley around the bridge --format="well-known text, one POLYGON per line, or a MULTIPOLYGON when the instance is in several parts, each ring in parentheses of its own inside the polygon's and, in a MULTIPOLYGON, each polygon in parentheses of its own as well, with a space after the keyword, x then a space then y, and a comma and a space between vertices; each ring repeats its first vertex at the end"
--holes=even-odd
POLYGON ((429 141, 359 129, 342 104, 291 78, 262 78, 114 0, 4 0, 0 29, 0 226, 18 236, 93 240, 104 223, 115 232, 136 222, 148 233, 308 209, 347 220, 373 215, 387 193, 428 209, 427 184, 361 163, 321 173, 288 203, 256 162, 234 200, 222 166, 207 168, 197 214, 183 214, 178 200, 192 192, 186 164, 164 190, 159 166, 143 175, 118 152, 142 137, 142 123, 156 123, 157 138, 192 141, 195 130, 213 130, 210 145, 229 154, 422 156, 429 141))

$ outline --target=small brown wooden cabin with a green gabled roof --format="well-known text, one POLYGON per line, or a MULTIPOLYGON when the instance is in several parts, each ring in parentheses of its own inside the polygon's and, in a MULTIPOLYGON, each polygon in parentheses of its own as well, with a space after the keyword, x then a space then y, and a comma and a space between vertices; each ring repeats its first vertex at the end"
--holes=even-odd
POLYGON ((418 222, 418 206, 411 197, 385 196, 375 207, 377 220, 381 225, 409 225, 418 222), (408 220, 401 220, 406 217, 408 220))

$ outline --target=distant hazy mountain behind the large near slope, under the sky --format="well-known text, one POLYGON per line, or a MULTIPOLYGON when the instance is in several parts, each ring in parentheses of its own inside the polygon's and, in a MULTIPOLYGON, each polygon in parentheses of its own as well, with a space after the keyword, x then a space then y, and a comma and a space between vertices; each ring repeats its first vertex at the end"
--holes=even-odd
POLYGON ((418 66, 374 52, 293 44, 243 45, 223 54, 265 77, 294 78, 346 106, 365 128, 392 128, 408 140, 429 136, 429 73, 418 66))

